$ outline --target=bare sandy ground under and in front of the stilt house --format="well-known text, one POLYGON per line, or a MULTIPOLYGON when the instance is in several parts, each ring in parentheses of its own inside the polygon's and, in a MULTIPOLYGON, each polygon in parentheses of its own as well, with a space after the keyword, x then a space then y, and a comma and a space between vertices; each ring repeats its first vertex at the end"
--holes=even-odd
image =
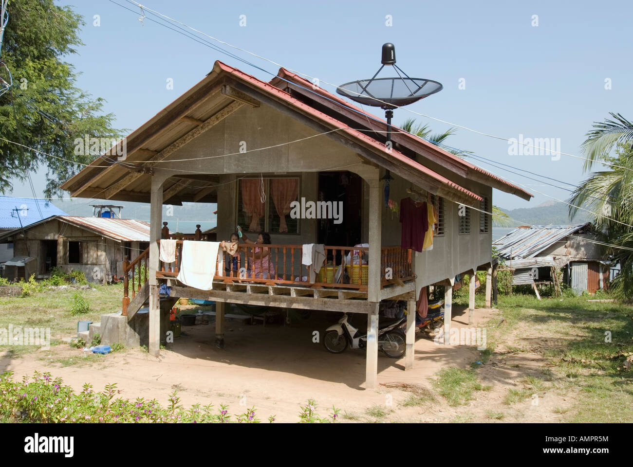
MULTIPOLYGON (((477 309, 472 326, 494 320, 496 313, 493 309, 477 309)), ((18 378, 34 370, 50 371, 76 390, 85 382, 95 390, 116 382, 122 397, 156 398, 163 405, 168 394, 177 389, 185 406, 213 403, 218 407, 225 403, 232 414, 255 406, 262 421, 274 415, 277 421, 296 422, 300 404, 315 399, 321 415, 333 405, 341 409, 341 414, 348 414, 341 421, 419 422, 496 421, 486 414, 503 403, 507 388, 517 385, 526 371, 537 372, 544 364, 540 354, 495 354, 478 371, 482 382, 492 385, 492 389, 477 391, 474 401, 451 408, 438 396, 436 401, 404 407, 402 402, 410 392, 384 385, 377 390, 365 389, 364 349, 348 348, 342 354, 330 354, 323 344, 313 342, 313 331, 322 333, 329 325, 327 318, 325 313, 313 313, 310 320, 286 327, 227 321, 222 350, 213 346, 213 323, 183 327, 183 335, 175 339, 171 350, 162 350, 158 359, 141 349, 126 349, 104 356, 103 361, 64 367, 53 360, 78 356, 82 351, 63 344, 22 358, 9 359, 5 352, 4 356, 0 354, 0 371, 13 370, 18 378), (384 414, 372 416, 370 408, 380 408, 384 414)), ((364 321, 357 315, 357 325, 364 321)), ((467 326, 467 310, 454 309, 452 327, 467 326)), ((468 368, 478 357, 475 347, 442 346, 418 334, 413 370, 404 371, 404 358, 391 359, 380 352, 378 380, 382 384, 413 383, 432 390, 432 379, 442 367, 468 368)), ((502 421, 557 421, 552 408, 564 404, 559 399, 552 394, 536 408, 530 401, 522 402, 506 410, 509 418, 502 421)))

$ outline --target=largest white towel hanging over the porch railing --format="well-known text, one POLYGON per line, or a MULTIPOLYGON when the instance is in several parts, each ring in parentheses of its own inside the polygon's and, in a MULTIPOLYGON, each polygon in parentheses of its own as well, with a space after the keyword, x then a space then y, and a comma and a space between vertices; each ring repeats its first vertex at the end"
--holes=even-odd
POLYGON ((220 242, 182 242, 182 263, 178 280, 199 290, 213 289, 220 242))

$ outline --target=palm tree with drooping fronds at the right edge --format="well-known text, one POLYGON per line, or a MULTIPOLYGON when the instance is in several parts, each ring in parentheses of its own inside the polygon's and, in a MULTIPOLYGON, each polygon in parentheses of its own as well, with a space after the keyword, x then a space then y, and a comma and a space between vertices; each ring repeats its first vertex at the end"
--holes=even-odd
POLYGON ((605 234, 606 252, 620 263, 620 273, 613 281, 614 292, 623 299, 633 297, 633 123, 622 115, 610 113, 612 119, 594 122, 582 144, 587 158, 584 182, 572 193, 570 216, 580 210, 591 212, 596 228, 605 234), (611 151, 615 154, 611 154, 611 151), (592 170, 598 163, 604 170, 592 170), (578 207, 575 207, 578 206, 578 207), (582 208, 582 209, 579 209, 582 208))

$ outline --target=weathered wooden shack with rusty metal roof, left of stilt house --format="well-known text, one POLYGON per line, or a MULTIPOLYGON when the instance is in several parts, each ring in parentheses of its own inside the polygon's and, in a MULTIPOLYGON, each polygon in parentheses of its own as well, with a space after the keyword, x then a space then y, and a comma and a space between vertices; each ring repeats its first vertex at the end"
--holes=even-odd
POLYGON ((13 259, 4 277, 10 280, 47 278, 51 269, 84 271, 90 282, 122 277, 125 256, 136 258, 149 245, 149 224, 132 219, 51 216, 25 228, 0 234, 13 244, 13 259))

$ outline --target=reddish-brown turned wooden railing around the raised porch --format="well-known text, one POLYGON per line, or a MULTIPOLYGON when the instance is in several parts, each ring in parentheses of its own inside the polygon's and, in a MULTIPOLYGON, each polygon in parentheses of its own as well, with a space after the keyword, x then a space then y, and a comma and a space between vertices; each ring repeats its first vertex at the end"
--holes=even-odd
MULTIPOLYGON (((182 262, 182 240, 176 242, 174 263, 159 266, 159 277, 176 277, 182 262)), ((349 246, 325 246, 325 263, 315 282, 310 282, 308 266, 302 264, 301 245, 253 245, 240 244, 237 256, 220 251, 218 270, 214 279, 224 282, 274 283, 279 285, 310 285, 313 287, 342 287, 367 290, 368 248, 349 246), (262 254, 263 252, 263 254, 262 254), (342 258, 346 267, 339 272, 342 258), (349 264, 355 263, 355 264, 349 264), (358 265, 358 263, 363 263, 358 265), (336 280, 339 272, 339 281, 336 280), (345 277, 347 274, 347 278, 345 277), (346 280, 344 280, 346 279, 346 280)), ((410 280, 411 251, 399 246, 382 247, 380 250, 380 285, 410 280), (389 269, 387 269, 389 268, 389 269)))

